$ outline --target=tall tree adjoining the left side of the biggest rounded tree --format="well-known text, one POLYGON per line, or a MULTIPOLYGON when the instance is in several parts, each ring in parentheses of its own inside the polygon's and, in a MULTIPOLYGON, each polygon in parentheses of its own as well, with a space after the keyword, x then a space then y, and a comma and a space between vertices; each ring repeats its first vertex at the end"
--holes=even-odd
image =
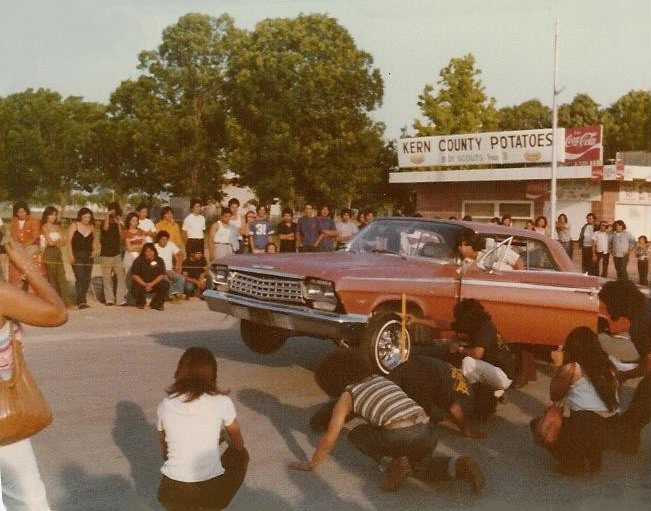
POLYGON ((215 196, 221 189, 226 170, 224 78, 238 32, 227 15, 186 14, 163 31, 156 50, 139 56, 145 74, 138 87, 141 92, 149 88, 152 97, 139 93, 136 98, 149 106, 156 103, 153 112, 139 110, 141 116, 153 115, 140 120, 152 127, 154 119, 165 122, 160 144, 146 141, 158 151, 156 168, 149 170, 167 176, 173 192, 215 196))

